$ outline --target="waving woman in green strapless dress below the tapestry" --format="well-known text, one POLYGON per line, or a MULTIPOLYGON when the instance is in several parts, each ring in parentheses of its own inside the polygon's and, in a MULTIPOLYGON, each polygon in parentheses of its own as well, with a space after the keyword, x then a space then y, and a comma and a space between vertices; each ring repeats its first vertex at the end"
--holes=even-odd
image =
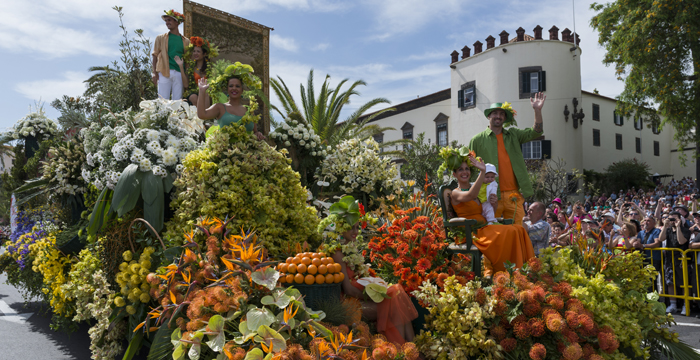
MULTIPOLYGON (((243 82, 238 76, 228 78, 228 86, 226 87, 226 95, 228 95, 227 103, 219 103, 206 108, 206 99, 209 97, 207 89, 209 84, 207 79, 199 79, 199 98, 197 99, 197 116, 202 120, 217 119, 219 127, 224 127, 233 123, 238 123, 243 119, 248 109, 242 104, 241 97, 243 95, 243 82)), ((263 140, 265 136, 258 131, 257 124, 246 123, 246 130, 253 132, 258 140, 263 140)))

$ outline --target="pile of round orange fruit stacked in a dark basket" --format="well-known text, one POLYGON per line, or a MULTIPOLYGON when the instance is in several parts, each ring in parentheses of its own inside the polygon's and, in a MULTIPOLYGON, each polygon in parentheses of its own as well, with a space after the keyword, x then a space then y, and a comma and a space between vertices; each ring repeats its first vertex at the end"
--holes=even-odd
POLYGON ((277 265, 283 284, 337 284, 345 279, 340 264, 324 253, 298 253, 277 265))

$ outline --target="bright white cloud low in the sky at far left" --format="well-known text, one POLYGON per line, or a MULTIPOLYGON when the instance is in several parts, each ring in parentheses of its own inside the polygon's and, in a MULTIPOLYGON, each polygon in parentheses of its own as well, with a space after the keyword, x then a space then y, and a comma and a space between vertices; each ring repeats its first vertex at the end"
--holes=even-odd
POLYGON ((14 90, 24 97, 38 101, 51 102, 63 95, 80 96, 85 91, 83 81, 89 76, 88 73, 79 71, 66 71, 60 78, 34 80, 18 83, 14 90))

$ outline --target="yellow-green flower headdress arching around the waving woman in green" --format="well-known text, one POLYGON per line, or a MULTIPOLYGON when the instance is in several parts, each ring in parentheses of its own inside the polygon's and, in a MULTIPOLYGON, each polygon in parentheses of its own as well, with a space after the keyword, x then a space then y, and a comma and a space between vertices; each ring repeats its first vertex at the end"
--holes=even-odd
POLYGON ((243 91, 241 96, 242 99, 248 100, 248 105, 244 105, 247 109, 245 115, 241 119, 240 123, 245 125, 247 123, 257 123, 260 121, 261 115, 256 115, 255 111, 258 109, 258 101, 255 99, 255 95, 261 95, 262 92, 262 81, 260 78, 253 74, 253 67, 248 64, 241 64, 236 61, 234 64, 226 67, 226 70, 214 79, 209 79, 209 96, 212 99, 219 98, 220 93, 227 94, 228 81, 232 77, 239 78, 243 85, 249 90, 243 91))

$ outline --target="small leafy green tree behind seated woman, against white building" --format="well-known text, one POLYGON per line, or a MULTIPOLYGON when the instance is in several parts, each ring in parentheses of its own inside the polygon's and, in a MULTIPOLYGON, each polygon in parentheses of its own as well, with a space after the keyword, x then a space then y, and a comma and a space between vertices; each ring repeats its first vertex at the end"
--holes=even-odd
MULTIPOLYGON (((458 148, 456 141, 452 142, 453 148, 458 148)), ((418 134, 411 146, 407 146, 403 152, 403 159, 406 162, 401 165, 401 179, 414 180, 419 189, 425 186, 425 177, 431 184, 428 188, 430 194, 437 194, 438 187, 442 185, 443 179, 438 176, 437 171, 443 160, 440 157, 438 144, 431 144, 430 140, 425 141, 425 133, 418 134)))

